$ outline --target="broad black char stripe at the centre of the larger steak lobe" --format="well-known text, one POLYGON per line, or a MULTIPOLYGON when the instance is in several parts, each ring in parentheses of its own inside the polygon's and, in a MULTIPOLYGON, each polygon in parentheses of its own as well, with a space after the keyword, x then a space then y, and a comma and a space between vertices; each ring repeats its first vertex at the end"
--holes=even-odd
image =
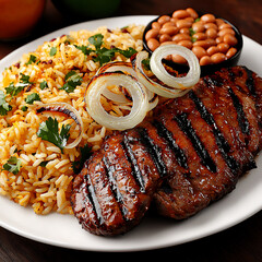
POLYGON ((216 172, 217 171, 216 165, 215 165, 214 160, 212 159, 212 157, 210 156, 209 152, 205 150, 200 138, 195 133, 195 130, 191 126, 191 122, 188 119, 187 114, 182 112, 180 115, 177 115, 174 118, 174 120, 177 121, 179 128, 190 139, 195 152, 198 153, 198 155, 200 156, 202 163, 206 166, 206 168, 212 172, 216 172))

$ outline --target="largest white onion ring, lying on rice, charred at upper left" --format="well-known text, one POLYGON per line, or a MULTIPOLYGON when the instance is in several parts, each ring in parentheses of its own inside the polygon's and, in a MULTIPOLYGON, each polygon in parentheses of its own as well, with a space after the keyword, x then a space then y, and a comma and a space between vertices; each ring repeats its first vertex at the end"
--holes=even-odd
POLYGON ((111 130, 131 129, 143 121, 148 110, 146 91, 136 79, 121 72, 106 72, 95 75, 85 93, 86 109, 99 124, 111 130), (122 85, 132 96, 133 105, 129 115, 115 117, 109 115, 100 104, 100 95, 108 85, 122 85))

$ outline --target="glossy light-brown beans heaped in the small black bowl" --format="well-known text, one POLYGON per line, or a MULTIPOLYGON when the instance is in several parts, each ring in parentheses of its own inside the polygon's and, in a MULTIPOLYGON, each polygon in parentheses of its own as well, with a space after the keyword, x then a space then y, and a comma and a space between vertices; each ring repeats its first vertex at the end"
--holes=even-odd
MULTIPOLYGON (((160 45, 177 44, 191 49, 200 66, 219 63, 236 55, 238 43, 230 24, 213 14, 199 14, 192 8, 176 10, 170 16, 162 15, 146 32, 147 47, 154 51, 160 45)), ((179 56, 174 62, 186 63, 179 56)))

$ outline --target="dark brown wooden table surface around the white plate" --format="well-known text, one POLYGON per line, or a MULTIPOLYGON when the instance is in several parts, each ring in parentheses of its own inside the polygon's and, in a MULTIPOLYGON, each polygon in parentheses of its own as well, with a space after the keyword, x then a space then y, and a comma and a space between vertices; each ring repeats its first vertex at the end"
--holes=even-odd
MULTIPOLYGON (((243 35, 262 44, 261 0, 122 0, 116 15, 165 14, 188 7, 222 16, 237 25, 243 35)), ((44 16, 31 36, 19 41, 0 43, 0 59, 39 36, 76 22, 81 21, 62 16, 48 0, 44 16)), ((132 260, 142 257, 142 254, 159 254, 165 255, 164 259, 183 262, 262 261, 262 212, 237 226, 193 242, 158 250, 132 252, 128 257, 122 253, 85 252, 52 247, 0 228, 0 262, 67 262, 105 258, 130 258, 132 260), (90 258, 93 254, 96 257, 90 258)))

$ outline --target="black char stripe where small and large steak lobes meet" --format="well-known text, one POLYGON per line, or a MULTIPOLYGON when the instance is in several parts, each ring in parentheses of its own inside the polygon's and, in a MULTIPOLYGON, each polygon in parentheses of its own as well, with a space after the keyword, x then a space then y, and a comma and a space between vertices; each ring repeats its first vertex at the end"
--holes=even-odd
POLYGON ((146 129, 138 128, 138 132, 140 134, 141 142, 146 147, 147 152, 152 156, 152 159, 158 170, 160 177, 165 177, 167 175, 167 168, 165 163, 162 159, 162 151, 155 145, 154 141, 150 138, 146 129))

